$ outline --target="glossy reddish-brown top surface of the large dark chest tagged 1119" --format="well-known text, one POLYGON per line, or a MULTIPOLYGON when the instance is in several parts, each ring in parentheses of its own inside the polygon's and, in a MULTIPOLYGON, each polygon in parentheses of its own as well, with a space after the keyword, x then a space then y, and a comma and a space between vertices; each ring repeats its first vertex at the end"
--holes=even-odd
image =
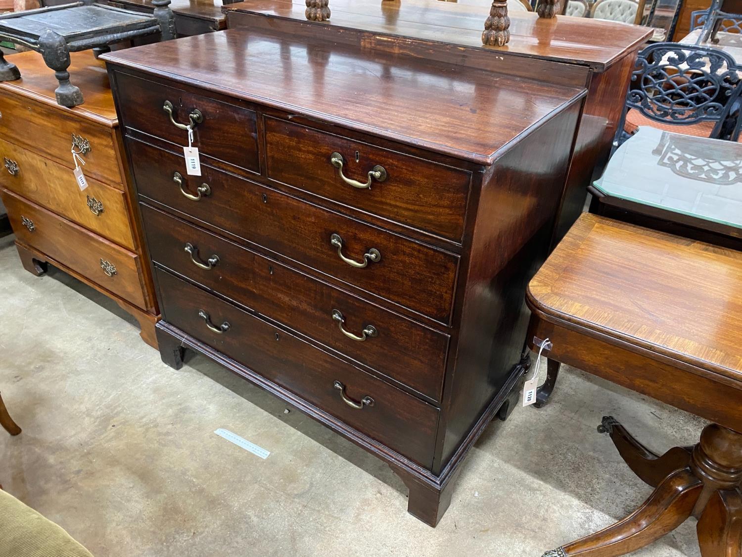
POLYGON ((580 87, 247 29, 102 58, 484 165, 585 94, 580 87))

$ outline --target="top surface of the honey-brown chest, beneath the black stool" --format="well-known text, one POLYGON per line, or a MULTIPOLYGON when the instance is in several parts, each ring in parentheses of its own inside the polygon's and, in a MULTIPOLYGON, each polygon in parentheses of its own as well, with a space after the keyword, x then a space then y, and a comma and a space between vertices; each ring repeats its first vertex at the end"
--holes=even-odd
POLYGON ((105 62, 96 59, 93 51, 70 53, 72 63, 69 71, 73 74, 75 84, 85 95, 85 102, 74 108, 66 108, 57 104, 54 90, 59 86, 59 82, 54 77, 54 71, 47 68, 40 53, 22 52, 6 56, 6 59, 18 66, 21 79, 0 82, 0 91, 38 100, 52 106, 55 110, 95 120, 105 126, 118 125, 116 106, 114 97, 111 95, 105 62))

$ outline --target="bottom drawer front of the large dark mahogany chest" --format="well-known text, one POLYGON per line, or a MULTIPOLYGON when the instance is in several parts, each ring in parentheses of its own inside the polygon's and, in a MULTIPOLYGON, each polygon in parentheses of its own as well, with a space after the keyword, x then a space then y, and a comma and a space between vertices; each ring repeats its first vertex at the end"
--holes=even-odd
POLYGON ((421 466, 432 466, 437 408, 180 278, 156 273, 166 322, 421 466), (229 330, 212 331, 200 312, 209 316, 212 327, 229 330), (370 397, 373 404, 352 408, 335 382, 345 386, 350 401, 370 397))

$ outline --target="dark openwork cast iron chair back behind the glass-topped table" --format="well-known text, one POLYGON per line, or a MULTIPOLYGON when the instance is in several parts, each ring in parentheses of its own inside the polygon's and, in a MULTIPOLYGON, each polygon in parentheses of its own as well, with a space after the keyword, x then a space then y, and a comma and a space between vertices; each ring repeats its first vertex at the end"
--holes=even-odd
MULTIPOLYGON (((639 53, 614 146, 629 134, 626 113, 634 108, 655 122, 678 126, 715 122, 709 137, 737 140, 742 66, 715 48, 657 42, 639 53)), ((678 130, 680 131, 680 130, 678 130)), ((682 131, 680 131, 682 133, 682 131)))

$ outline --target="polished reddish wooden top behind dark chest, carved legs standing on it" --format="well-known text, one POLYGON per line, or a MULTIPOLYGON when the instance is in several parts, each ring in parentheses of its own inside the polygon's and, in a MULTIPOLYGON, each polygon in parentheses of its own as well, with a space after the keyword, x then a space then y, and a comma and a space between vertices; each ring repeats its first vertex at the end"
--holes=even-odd
MULTIPOLYGON (((576 62, 600 71, 623 56, 627 49, 646 42, 652 33, 648 27, 636 25, 567 16, 543 19, 533 12, 513 11, 508 13, 510 42, 493 47, 482 45, 489 7, 439 0, 330 0, 329 7, 332 12, 329 21, 317 25, 576 62)), ((306 22, 303 0, 247 0, 223 9, 306 22)))

